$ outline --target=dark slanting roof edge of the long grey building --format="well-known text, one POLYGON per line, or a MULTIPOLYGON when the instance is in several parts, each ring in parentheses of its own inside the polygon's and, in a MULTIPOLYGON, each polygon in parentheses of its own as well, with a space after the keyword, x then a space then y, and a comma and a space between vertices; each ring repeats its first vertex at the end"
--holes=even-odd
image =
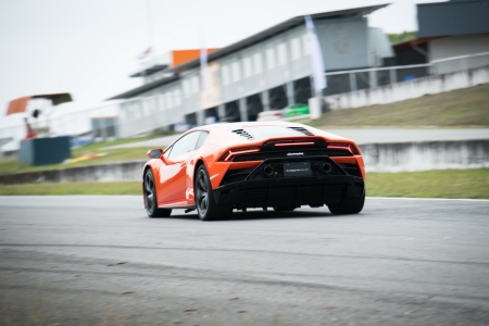
MULTIPOLYGON (((323 12, 323 13, 312 14, 311 17, 313 20, 359 17, 359 16, 367 15, 367 14, 369 14, 376 10, 379 10, 381 8, 385 8, 390 3, 385 3, 385 4, 377 4, 377 5, 369 5, 369 7, 360 7, 360 8, 344 9, 344 10, 338 10, 338 11, 323 12)), ((218 49, 218 50, 210 53, 208 60, 212 61, 212 60, 216 60, 218 58, 228 55, 240 49, 250 47, 259 41, 262 41, 264 39, 273 37, 274 35, 277 35, 279 33, 283 33, 285 30, 291 29, 296 26, 303 25, 303 24, 304 24, 304 16, 297 16, 297 17, 290 18, 288 21, 285 21, 284 23, 272 26, 272 27, 269 27, 265 30, 262 30, 255 35, 252 35, 248 38, 237 41, 236 43, 233 43, 225 48, 218 49)), ((189 68, 199 66, 199 65, 200 65, 200 60, 196 59, 196 60, 183 63, 180 65, 177 65, 175 67, 172 67, 172 68, 167 70, 167 72, 178 73, 181 71, 187 71, 189 68)))

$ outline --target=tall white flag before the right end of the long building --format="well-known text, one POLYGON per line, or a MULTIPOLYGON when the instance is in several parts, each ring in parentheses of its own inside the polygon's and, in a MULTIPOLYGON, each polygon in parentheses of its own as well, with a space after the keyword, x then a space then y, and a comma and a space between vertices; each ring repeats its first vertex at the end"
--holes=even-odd
POLYGON ((314 23, 310 15, 305 17, 305 28, 308 32, 309 46, 311 47, 311 64, 313 70, 314 93, 318 96, 327 87, 325 68, 323 64, 323 53, 319 40, 314 29, 314 23))

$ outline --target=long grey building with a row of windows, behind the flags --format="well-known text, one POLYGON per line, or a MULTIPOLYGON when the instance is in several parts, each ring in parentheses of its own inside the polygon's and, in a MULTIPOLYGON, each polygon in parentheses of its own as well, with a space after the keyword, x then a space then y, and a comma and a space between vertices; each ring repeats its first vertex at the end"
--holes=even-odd
MULTIPOLYGON (((384 59, 393 57, 387 36, 368 27, 366 17, 386 5, 311 15, 327 72, 383 66, 384 59)), ((129 99, 122 105, 120 135, 178 124, 254 121, 259 112, 306 103, 313 96, 313 72, 304 16, 210 52, 206 71, 202 84, 199 58, 145 68, 145 85, 112 98, 129 99), (156 73, 160 77, 152 78, 156 73), (130 101, 134 98, 138 100, 130 101)), ((353 78, 348 74, 328 76, 324 95, 349 91, 352 84, 355 89, 372 85, 369 74, 353 78)))

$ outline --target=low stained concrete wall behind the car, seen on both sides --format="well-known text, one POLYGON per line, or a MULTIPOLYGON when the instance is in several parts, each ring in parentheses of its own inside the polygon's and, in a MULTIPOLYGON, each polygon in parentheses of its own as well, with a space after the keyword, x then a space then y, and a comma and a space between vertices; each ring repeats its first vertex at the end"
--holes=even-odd
MULTIPOLYGON (((360 146, 367 172, 488 168, 489 139, 360 146)), ((0 175, 0 185, 137 181, 145 161, 0 175)))

